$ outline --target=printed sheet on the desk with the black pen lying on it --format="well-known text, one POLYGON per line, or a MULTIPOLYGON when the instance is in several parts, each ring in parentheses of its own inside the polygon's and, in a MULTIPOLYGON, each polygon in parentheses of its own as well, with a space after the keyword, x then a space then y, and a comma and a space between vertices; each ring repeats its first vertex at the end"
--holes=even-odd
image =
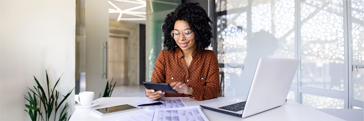
POLYGON ((152 100, 150 98, 139 98, 138 100, 131 102, 133 105, 150 104, 154 102, 162 102, 161 105, 149 105, 141 106, 143 109, 157 109, 157 108, 179 108, 187 107, 185 101, 182 98, 164 98, 162 100, 152 100))

